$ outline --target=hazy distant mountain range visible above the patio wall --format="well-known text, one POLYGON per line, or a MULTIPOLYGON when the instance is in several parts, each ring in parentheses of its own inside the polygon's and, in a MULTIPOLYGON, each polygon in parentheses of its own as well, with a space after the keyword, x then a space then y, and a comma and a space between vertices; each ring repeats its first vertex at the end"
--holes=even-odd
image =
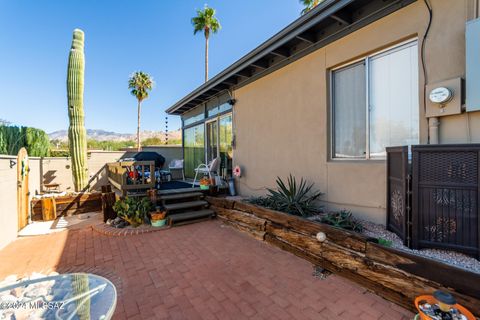
MULTIPOLYGON (((60 141, 67 141, 68 140, 68 132, 67 130, 59 130, 52 133, 49 133, 48 136, 50 140, 60 140, 60 141)), ((140 133, 141 139, 145 140, 148 138, 160 138, 165 139, 165 132, 163 131, 142 131, 140 133)), ((180 139, 182 137, 181 130, 169 131, 168 138, 169 139, 180 139)), ((133 133, 117 133, 112 131, 105 131, 105 130, 94 130, 94 129, 87 129, 87 138, 94 139, 97 141, 127 141, 127 140, 136 140, 137 135, 133 133)))

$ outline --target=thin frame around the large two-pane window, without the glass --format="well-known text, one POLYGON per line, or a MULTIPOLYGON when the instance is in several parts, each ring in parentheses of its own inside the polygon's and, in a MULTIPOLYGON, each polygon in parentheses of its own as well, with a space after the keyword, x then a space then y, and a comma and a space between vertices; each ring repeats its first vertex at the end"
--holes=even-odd
MULTIPOLYGON (((361 58, 358 58, 358 59, 354 59, 354 60, 350 60, 349 62, 347 63, 343 63, 339 66, 336 66, 334 68, 330 68, 329 71, 328 71, 328 85, 329 85, 329 113, 330 113, 330 116, 328 117, 329 118, 329 133, 330 133, 330 139, 329 139, 329 144, 330 144, 330 147, 329 147, 329 160, 332 160, 332 161, 385 161, 386 160, 386 156, 381 156, 381 157, 378 157, 378 156, 375 156, 375 157, 372 157, 370 155, 370 60, 372 60, 373 58, 377 58, 377 57, 381 57, 381 56, 384 56, 384 55, 387 55, 389 54, 390 52, 395 52, 395 51, 398 51, 402 48, 408 48, 410 46, 413 46, 413 45, 417 45, 417 48, 418 48, 418 38, 413 38, 413 39, 409 39, 409 40, 406 40, 406 41, 402 41, 398 44, 395 44, 395 45, 392 45, 392 46, 389 46, 385 49, 382 49, 382 50, 379 50, 379 51, 375 51, 374 53, 371 53, 371 54, 368 54, 368 55, 364 55, 362 56, 361 58), (338 71, 338 70, 341 70, 341 69, 345 69, 345 68, 348 68, 348 67, 351 67, 351 66, 354 66, 356 64, 359 64, 359 63, 364 63, 365 64, 365 108, 366 108, 366 126, 365 126, 365 134, 366 134, 366 145, 365 145, 365 156, 364 157, 345 157, 345 158, 341 158, 341 157, 335 157, 335 99, 334 99, 334 72, 335 71, 338 71)), ((418 53, 417 53, 418 54, 418 53)), ((417 68, 418 70, 420 70, 419 68, 420 66, 418 65, 417 68)), ((419 101, 420 102, 420 101, 419 101)), ((420 103, 419 103, 419 107, 420 107, 420 103)), ((420 113, 420 110, 418 110, 418 112, 420 113)), ((418 130, 419 130, 419 133, 420 133, 420 122, 419 122, 419 127, 418 127, 418 130)))

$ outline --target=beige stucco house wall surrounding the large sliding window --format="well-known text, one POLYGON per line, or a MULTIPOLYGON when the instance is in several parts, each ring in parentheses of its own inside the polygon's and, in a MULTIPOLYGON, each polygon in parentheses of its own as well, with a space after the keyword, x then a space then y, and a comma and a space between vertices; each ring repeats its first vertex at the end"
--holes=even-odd
MULTIPOLYGON (((434 20, 426 43, 428 82, 464 76, 465 22, 474 0, 432 0, 434 20)), ((382 160, 329 160, 328 70, 418 37, 428 22, 423 1, 407 6, 266 77, 235 91, 234 162, 243 167, 242 195, 262 194, 275 177, 292 173, 315 182, 332 208, 385 223, 386 167, 382 160)), ((419 59, 420 141, 428 142, 419 59)), ((480 141, 480 113, 442 117, 440 141, 480 141), (467 126, 467 121, 469 125, 467 126), (470 132, 467 132, 470 128, 470 132)))

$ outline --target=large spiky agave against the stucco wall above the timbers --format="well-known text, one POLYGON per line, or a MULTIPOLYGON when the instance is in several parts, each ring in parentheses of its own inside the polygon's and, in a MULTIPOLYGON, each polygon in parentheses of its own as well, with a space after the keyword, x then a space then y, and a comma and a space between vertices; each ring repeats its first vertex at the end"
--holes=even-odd
POLYGON ((322 195, 313 191, 313 183, 307 184, 303 178, 297 183, 295 177, 290 175, 285 184, 277 177, 277 189, 267 189, 267 198, 271 201, 273 209, 296 216, 308 217, 320 212, 320 207, 315 201, 322 195))

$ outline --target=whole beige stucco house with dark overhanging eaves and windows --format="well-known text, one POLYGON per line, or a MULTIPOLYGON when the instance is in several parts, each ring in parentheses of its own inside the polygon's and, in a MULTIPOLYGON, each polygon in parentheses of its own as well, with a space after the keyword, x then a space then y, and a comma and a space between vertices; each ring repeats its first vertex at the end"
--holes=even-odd
POLYGON ((327 206, 385 223, 385 147, 480 142, 479 10, 325 0, 168 109, 182 117, 187 176, 220 156, 223 175, 242 168, 241 195, 291 173, 327 206))

